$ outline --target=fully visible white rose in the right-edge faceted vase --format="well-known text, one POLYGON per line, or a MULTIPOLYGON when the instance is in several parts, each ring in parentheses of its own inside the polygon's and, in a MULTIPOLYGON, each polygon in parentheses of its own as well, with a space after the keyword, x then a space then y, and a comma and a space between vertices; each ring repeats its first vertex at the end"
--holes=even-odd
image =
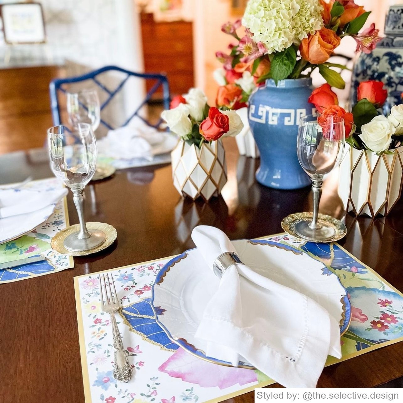
POLYGON ((385 116, 376 116, 370 123, 362 125, 359 138, 369 150, 379 153, 389 148, 394 131, 395 128, 385 116))

